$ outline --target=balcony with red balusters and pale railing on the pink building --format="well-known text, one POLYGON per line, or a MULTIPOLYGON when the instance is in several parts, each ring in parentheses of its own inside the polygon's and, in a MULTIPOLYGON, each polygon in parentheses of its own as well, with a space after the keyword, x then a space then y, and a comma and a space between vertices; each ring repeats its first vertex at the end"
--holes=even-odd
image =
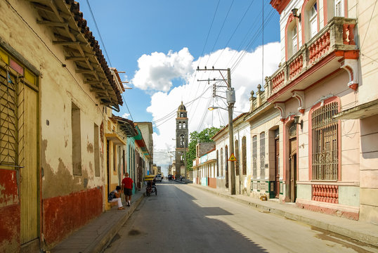
POLYGON ((340 67, 348 70, 348 66, 344 66, 344 60, 356 60, 359 53, 354 41, 355 26, 355 19, 332 18, 292 58, 283 63, 271 77, 266 78, 268 101, 285 101, 292 97, 294 91, 308 88, 340 67))

